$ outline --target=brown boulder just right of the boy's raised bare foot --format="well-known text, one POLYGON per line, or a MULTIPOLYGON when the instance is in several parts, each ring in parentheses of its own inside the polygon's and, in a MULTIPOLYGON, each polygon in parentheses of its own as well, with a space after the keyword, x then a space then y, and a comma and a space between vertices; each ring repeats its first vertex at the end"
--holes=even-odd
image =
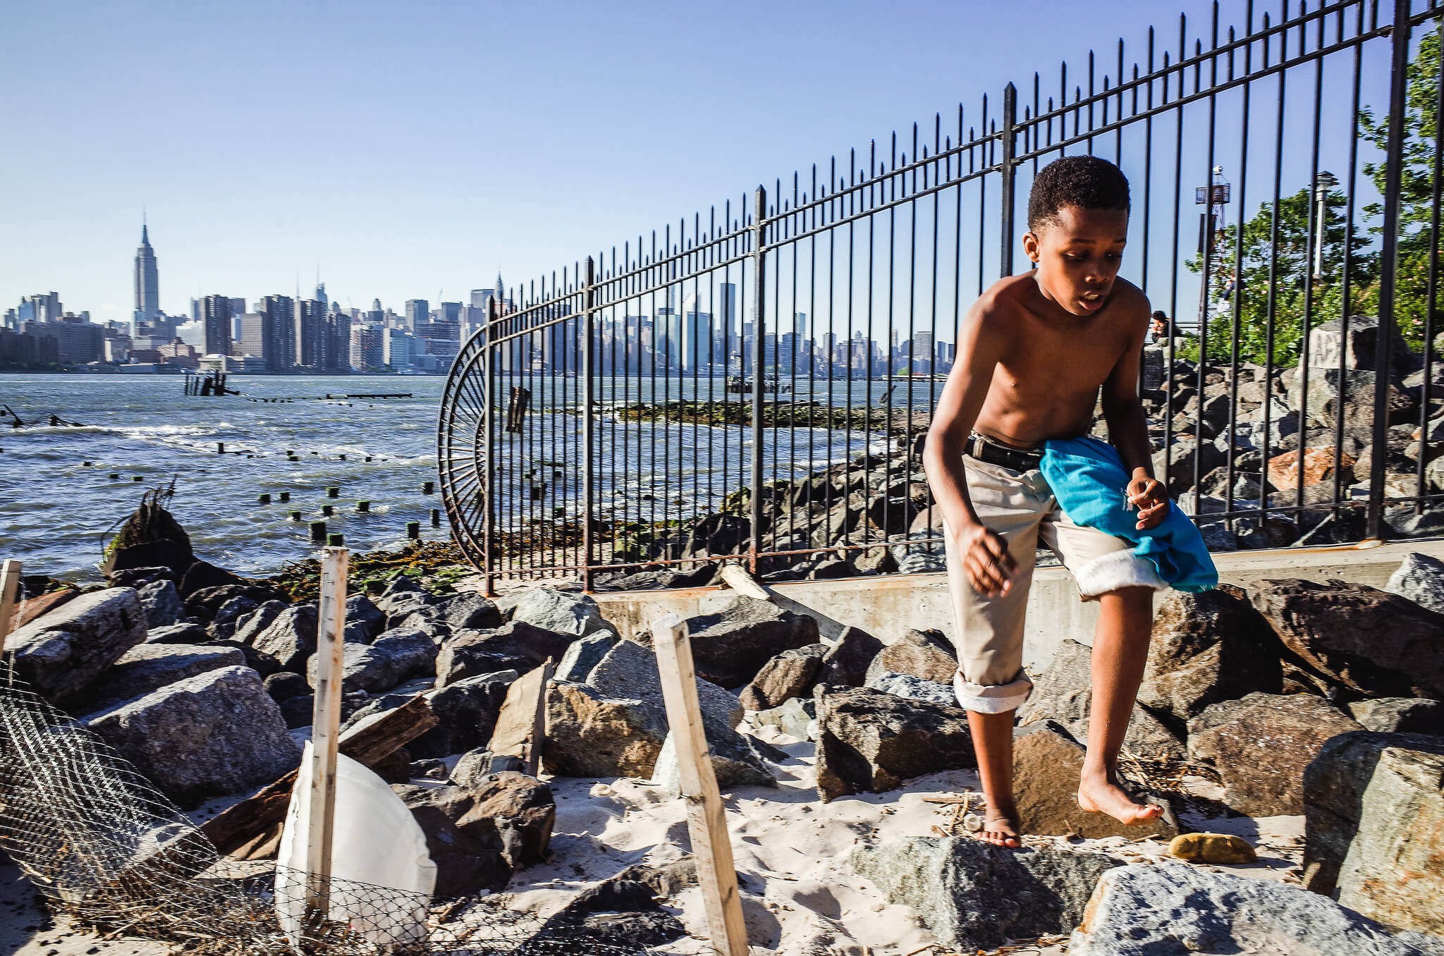
POLYGON ((1251 693, 1188 722, 1188 755, 1223 781, 1223 801, 1248 816, 1304 812, 1304 767, 1333 736, 1362 729, 1310 693, 1251 693))

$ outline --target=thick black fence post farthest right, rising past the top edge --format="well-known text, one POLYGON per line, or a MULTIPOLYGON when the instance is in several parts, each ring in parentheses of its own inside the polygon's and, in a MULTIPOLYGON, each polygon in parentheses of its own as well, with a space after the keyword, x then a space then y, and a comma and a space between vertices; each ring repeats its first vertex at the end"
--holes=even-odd
MULTIPOLYGON (((1389 142, 1383 170, 1383 243, 1379 256, 1379 338, 1373 354, 1373 448, 1369 461, 1369 527, 1383 540, 1385 466, 1389 464, 1389 368, 1393 364, 1393 316, 1399 271, 1399 194, 1404 176, 1404 111, 1409 72, 1409 0, 1393 0, 1392 72, 1389 74, 1389 142)), ((1339 383, 1340 400, 1344 386, 1339 383)), ((1340 413, 1343 410, 1340 409, 1340 413)))

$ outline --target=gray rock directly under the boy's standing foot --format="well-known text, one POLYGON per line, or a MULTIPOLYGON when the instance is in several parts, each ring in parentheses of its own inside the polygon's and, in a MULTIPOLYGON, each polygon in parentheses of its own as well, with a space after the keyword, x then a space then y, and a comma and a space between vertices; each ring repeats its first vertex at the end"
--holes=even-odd
POLYGON ((911 907, 939 942, 976 952, 1067 933, 1119 861, 1060 846, 1005 849, 966 836, 913 836, 852 851, 852 869, 911 907))

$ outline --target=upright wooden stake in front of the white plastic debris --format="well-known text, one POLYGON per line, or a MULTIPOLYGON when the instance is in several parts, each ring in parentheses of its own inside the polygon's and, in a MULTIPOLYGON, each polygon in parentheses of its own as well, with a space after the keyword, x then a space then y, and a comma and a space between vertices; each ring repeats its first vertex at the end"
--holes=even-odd
POLYGON ((310 800, 306 822, 306 913, 318 924, 331 904, 331 839, 336 810, 336 748, 351 552, 328 547, 321 557, 316 625, 316 709, 310 723, 310 800))

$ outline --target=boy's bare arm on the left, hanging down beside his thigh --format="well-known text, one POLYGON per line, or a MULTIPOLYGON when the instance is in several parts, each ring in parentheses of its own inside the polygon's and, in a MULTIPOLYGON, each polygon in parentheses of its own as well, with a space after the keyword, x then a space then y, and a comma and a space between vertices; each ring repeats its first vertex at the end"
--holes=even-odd
POLYGON ((978 520, 963 469, 967 435, 988 399, 993 368, 1002 355, 1004 335, 999 329, 986 328, 985 302, 988 299, 973 303, 957 329, 957 360, 947 374, 933 423, 927 429, 923 469, 937 508, 943 513, 947 534, 963 556, 969 583, 992 596, 1008 591, 1017 565, 1008 555, 1008 543, 1002 536, 978 520))

